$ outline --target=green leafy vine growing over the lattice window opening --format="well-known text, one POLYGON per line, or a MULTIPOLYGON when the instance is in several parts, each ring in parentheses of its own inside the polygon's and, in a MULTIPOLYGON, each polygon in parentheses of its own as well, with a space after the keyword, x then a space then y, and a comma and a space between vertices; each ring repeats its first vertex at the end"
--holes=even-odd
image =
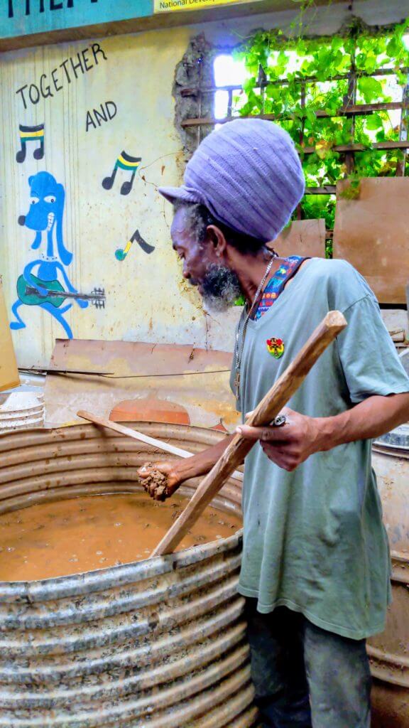
MULTIPOLYGON (((336 116, 351 100, 349 79, 339 76, 348 76, 354 69, 357 104, 391 101, 389 79, 395 79, 403 89, 408 82, 407 73, 402 71, 409 67, 403 39, 408 28, 409 19, 376 35, 357 23, 345 36, 319 39, 288 39, 281 31, 257 33, 235 53, 244 61, 248 78, 243 91, 234 97, 234 113, 273 114, 301 153, 308 187, 334 185, 349 177, 351 185, 344 194, 357 197, 360 178, 394 176, 404 154, 396 149, 373 149, 374 142, 400 138, 399 125, 394 126, 389 111, 355 116, 354 121, 351 116, 336 116), (378 68, 392 68, 394 75, 368 75, 378 68), (266 85, 260 89, 261 78, 266 85), (322 111, 331 116, 319 116, 322 111), (363 151, 354 154, 354 169, 348 174, 346 155, 334 147, 350 143, 361 144, 363 151), (306 154, 306 148, 313 152, 306 154)), ((304 218, 325 218, 327 228, 333 228, 335 196, 306 195, 301 211, 304 218)))

